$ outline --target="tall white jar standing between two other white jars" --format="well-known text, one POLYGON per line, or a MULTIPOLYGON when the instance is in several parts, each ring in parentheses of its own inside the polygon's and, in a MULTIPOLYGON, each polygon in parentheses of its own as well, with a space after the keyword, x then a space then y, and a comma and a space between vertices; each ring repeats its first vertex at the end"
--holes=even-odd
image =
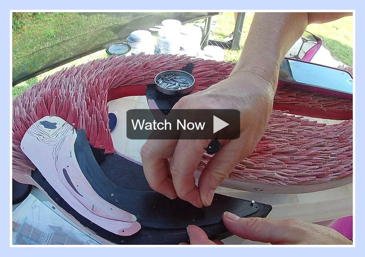
POLYGON ((157 44, 160 54, 178 54, 180 50, 180 20, 167 19, 161 21, 157 33, 157 44))

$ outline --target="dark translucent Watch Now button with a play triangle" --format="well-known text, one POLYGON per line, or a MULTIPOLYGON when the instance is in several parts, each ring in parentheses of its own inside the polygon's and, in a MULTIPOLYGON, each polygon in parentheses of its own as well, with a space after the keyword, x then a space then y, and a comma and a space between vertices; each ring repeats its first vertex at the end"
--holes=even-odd
POLYGON ((240 136, 240 112, 232 109, 167 112, 134 109, 127 111, 126 121, 130 139, 237 139, 240 136))

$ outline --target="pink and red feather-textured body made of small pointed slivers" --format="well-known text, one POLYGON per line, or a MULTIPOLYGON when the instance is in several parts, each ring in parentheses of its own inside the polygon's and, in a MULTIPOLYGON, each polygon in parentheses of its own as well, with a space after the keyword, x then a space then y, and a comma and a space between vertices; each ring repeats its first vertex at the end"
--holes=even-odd
MULTIPOLYGON (((108 91, 154 83, 161 71, 181 69, 193 62, 192 93, 223 79, 233 62, 190 59, 186 56, 134 55, 93 60, 62 70, 36 83, 13 101, 13 172, 29 174, 35 168, 20 142, 26 130, 45 116, 59 116, 75 129, 85 129, 90 144, 114 153, 108 127, 108 91)), ((120 97, 123 97, 121 95, 120 97)), ((315 93, 278 88, 274 110, 255 151, 239 163, 229 179, 270 185, 316 184, 352 177, 352 101, 315 93), (298 108, 300 106, 300 108, 298 108), (288 115, 347 119, 335 125, 288 115)), ((203 169, 211 156, 205 154, 203 169)))

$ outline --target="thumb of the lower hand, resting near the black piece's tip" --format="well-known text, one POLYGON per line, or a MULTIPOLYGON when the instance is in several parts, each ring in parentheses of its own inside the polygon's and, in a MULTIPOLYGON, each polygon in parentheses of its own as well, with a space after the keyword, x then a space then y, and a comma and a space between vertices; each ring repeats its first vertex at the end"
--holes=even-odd
POLYGON ((288 228, 283 220, 261 217, 242 218, 225 212, 223 222, 231 233, 251 241, 286 244, 293 242, 296 238, 296 231, 288 228))

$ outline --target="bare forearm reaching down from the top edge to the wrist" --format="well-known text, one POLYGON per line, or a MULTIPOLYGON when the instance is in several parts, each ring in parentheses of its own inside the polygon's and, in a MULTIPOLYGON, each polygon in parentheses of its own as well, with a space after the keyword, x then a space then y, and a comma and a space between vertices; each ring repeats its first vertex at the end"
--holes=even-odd
POLYGON ((255 13, 232 74, 253 73, 269 81, 275 91, 280 63, 307 23, 308 13, 255 13))

